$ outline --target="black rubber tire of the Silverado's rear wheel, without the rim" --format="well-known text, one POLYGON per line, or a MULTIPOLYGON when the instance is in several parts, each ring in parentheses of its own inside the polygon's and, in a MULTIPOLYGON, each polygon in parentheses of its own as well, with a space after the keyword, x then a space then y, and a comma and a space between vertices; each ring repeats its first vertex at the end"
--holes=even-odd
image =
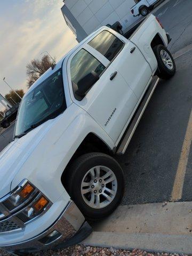
POLYGON ((172 54, 170 53, 169 50, 167 50, 167 48, 164 45, 160 45, 160 44, 155 46, 153 51, 158 63, 157 76, 162 79, 170 79, 172 76, 174 76, 176 71, 176 66, 175 66, 175 62, 172 57, 172 54), (171 61, 172 61, 172 67, 170 67, 171 69, 167 68, 167 66, 165 65, 162 59, 162 56, 161 56, 162 50, 164 50, 167 54, 169 54, 169 57, 171 58, 171 61))

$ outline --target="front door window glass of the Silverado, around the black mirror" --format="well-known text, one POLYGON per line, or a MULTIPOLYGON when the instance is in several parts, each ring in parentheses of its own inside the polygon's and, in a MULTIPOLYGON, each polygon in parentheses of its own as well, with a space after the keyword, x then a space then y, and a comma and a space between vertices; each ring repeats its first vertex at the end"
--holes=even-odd
POLYGON ((70 63, 70 74, 71 81, 75 84, 91 73, 91 71, 95 71, 98 75, 105 70, 105 66, 102 63, 93 57, 89 52, 84 49, 80 50, 70 63))

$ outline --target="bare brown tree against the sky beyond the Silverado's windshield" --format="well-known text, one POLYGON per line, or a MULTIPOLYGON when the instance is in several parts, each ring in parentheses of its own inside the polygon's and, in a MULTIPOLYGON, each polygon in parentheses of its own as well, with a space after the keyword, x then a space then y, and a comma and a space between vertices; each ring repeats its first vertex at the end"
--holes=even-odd
POLYGON ((55 58, 53 60, 49 55, 43 55, 41 60, 31 60, 27 64, 27 87, 29 88, 35 81, 42 76, 47 69, 52 67, 55 63, 55 58))

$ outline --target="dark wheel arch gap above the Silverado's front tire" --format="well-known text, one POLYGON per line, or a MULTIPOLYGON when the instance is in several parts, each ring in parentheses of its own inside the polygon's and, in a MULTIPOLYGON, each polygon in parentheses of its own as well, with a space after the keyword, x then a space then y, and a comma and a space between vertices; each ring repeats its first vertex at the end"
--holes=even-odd
POLYGON ((93 132, 90 132, 86 135, 82 143, 78 146, 77 150, 71 157, 70 161, 68 162, 67 166, 65 167, 65 170, 63 170, 61 175, 61 182, 63 187, 68 191, 67 187, 67 180, 69 173, 69 166, 71 163, 73 163, 74 159, 76 159, 79 156, 82 156, 87 153, 91 152, 98 152, 98 153, 105 153, 108 155, 113 155, 115 153, 115 148, 111 150, 109 145, 105 141, 103 141, 101 138, 98 137, 98 135, 94 134, 93 132))

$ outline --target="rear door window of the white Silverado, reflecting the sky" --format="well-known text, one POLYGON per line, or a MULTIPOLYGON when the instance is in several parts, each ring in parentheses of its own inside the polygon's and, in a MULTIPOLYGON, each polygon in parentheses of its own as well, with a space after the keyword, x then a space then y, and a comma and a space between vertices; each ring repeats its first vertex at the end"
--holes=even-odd
POLYGON ((109 31, 103 30, 89 42, 89 45, 111 61, 121 51, 124 43, 109 31))

